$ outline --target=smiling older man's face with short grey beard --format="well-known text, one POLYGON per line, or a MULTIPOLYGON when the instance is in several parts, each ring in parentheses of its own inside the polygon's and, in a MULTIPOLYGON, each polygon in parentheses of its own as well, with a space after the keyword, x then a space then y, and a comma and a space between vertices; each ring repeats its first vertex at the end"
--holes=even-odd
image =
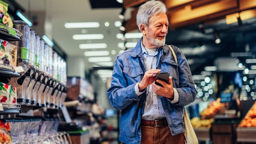
POLYGON ((153 15, 149 19, 149 26, 145 26, 142 30, 143 45, 147 48, 155 48, 163 46, 168 31, 168 20, 165 13, 153 15))

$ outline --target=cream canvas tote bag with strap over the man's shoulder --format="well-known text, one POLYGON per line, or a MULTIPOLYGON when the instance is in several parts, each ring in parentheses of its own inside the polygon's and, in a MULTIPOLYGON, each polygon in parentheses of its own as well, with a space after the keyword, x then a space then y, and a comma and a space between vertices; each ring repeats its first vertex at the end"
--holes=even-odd
MULTIPOLYGON (((176 57, 176 54, 174 53, 173 49, 172 49, 172 46, 170 46, 170 50, 172 51, 172 55, 176 61, 176 63, 178 64, 178 61, 177 61, 177 57, 176 57)), ((196 137, 196 133, 190 123, 190 118, 189 118, 189 115, 188 115, 188 111, 187 109, 184 107, 184 118, 183 118, 183 121, 184 121, 184 125, 185 125, 185 132, 184 132, 184 135, 185 135, 185 143, 186 144, 198 144, 198 139, 196 137)))

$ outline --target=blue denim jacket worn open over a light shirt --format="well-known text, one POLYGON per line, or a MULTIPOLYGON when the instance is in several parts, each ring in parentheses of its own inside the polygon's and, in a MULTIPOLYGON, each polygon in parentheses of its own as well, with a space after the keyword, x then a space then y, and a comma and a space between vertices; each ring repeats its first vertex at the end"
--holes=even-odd
MULTIPOLYGON (((107 90, 111 106, 121 110, 119 140, 125 144, 140 143, 141 140, 140 122, 147 95, 144 92, 137 97, 134 91, 135 84, 141 81, 145 73, 140 45, 141 40, 133 49, 117 55, 111 86, 107 90)), ((172 47, 177 55, 178 64, 169 46, 164 45, 158 49, 156 68, 161 69, 162 73, 170 73, 173 87, 179 93, 177 103, 171 103, 165 97, 159 96, 170 131, 172 135, 176 135, 184 132, 183 108, 195 100, 196 90, 185 55, 177 47, 172 47)))

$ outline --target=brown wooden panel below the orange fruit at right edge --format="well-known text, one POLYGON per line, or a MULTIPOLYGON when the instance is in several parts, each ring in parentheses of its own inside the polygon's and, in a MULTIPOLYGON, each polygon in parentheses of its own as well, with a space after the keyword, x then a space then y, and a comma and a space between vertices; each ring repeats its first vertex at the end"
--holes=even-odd
POLYGON ((256 142, 256 127, 237 127, 237 142, 256 142))

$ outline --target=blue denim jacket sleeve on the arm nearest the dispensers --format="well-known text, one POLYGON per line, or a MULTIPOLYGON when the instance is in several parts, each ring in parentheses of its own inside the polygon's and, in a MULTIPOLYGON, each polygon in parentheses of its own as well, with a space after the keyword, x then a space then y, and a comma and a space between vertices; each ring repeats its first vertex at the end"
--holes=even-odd
POLYGON ((128 80, 123 73, 122 60, 118 58, 115 61, 114 70, 111 79, 111 86, 107 90, 109 102, 111 106, 118 110, 125 109, 133 103, 133 101, 139 101, 140 97, 135 94, 133 84, 128 85, 128 80))

